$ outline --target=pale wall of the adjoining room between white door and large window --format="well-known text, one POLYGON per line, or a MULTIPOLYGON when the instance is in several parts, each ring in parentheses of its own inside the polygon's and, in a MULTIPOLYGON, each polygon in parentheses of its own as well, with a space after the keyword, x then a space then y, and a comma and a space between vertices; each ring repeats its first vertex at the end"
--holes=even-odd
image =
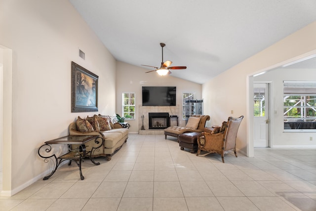
POLYGON ((272 144, 276 146, 316 145, 315 132, 283 132, 283 81, 315 81, 315 69, 276 69, 254 77, 254 83, 269 81, 272 84, 272 144), (276 112, 276 114, 275 114, 276 112), (310 137, 314 141, 310 141, 310 137))

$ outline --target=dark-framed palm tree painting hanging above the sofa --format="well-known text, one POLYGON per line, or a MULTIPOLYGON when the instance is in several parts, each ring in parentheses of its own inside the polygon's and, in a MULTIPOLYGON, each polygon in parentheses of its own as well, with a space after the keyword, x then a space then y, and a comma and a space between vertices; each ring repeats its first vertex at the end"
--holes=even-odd
POLYGON ((71 112, 98 111, 98 78, 71 62, 71 112))

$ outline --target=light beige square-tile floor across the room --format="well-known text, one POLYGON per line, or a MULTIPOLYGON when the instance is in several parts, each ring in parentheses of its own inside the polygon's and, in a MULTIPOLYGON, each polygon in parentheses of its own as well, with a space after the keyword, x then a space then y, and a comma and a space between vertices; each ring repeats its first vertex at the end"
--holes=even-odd
POLYGON ((64 165, 1 211, 316 211, 316 149, 257 148, 255 157, 201 156, 175 138, 129 134, 111 161, 64 165))

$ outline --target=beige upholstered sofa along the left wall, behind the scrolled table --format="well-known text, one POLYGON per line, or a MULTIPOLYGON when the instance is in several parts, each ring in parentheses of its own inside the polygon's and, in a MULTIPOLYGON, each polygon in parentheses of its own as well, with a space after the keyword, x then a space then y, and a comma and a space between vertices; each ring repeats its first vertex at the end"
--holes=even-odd
MULTIPOLYGON (((94 151, 93 157, 107 157, 108 161, 111 160, 112 155, 121 148, 124 142, 128 138, 128 129, 123 128, 119 123, 114 124, 114 128, 105 131, 92 131, 92 132, 79 132, 77 129, 76 122, 69 125, 70 135, 99 135, 103 142, 103 146, 94 151)), ((94 140, 88 142, 86 150, 90 151, 92 147, 98 147, 99 144, 95 143, 94 140)))

